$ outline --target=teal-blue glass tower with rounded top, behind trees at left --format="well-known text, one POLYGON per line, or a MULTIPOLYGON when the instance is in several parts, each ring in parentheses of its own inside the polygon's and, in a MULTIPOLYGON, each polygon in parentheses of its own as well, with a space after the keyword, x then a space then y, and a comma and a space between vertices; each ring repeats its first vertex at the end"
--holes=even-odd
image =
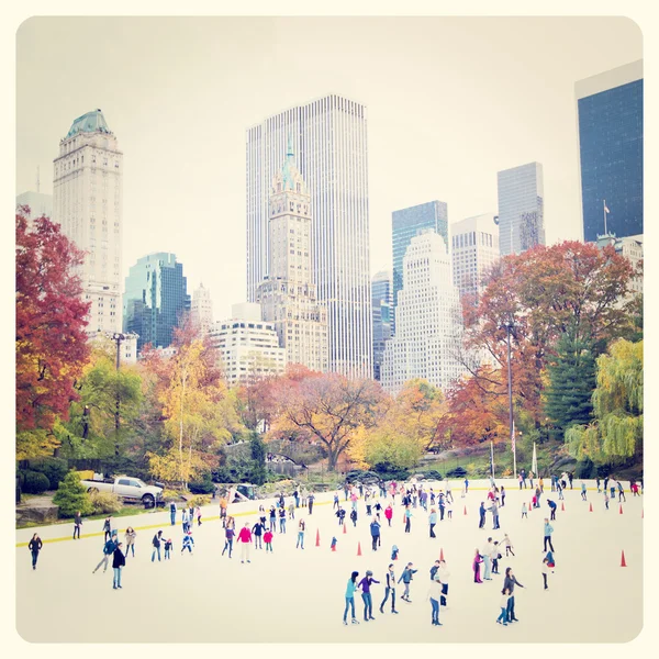
POLYGON ((188 281, 175 254, 143 256, 131 267, 123 295, 123 331, 139 335, 137 350, 146 344, 167 348, 177 327, 190 312, 188 281))

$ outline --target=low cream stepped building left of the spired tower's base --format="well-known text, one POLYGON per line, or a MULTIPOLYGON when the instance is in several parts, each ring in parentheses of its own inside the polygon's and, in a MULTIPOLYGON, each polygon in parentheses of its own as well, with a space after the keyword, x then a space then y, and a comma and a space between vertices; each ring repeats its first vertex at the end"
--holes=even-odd
POLYGON ((230 387, 286 370, 286 348, 279 347, 275 325, 261 321, 259 304, 234 304, 232 317, 213 323, 209 336, 230 387))

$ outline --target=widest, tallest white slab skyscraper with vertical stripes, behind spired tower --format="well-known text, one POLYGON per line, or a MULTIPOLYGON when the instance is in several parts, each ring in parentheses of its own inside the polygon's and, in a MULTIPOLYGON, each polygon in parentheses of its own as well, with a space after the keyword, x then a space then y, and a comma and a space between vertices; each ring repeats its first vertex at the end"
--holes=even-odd
POLYGON ((312 272, 327 308, 328 367, 372 376, 366 108, 328 94, 247 130, 247 299, 268 275, 269 189, 288 137, 311 194, 312 272))

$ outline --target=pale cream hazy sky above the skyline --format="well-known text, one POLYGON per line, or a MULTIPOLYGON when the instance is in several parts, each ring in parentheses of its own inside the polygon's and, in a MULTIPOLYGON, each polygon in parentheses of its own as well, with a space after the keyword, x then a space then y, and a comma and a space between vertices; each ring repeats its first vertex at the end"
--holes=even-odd
POLYGON ((52 192, 74 119, 124 153, 123 272, 174 252, 215 320, 245 299, 245 130, 328 92, 368 107, 371 273, 391 212, 496 212, 496 171, 545 170, 547 242, 580 236, 574 82, 643 57, 618 18, 36 18, 18 33, 16 193, 52 192))

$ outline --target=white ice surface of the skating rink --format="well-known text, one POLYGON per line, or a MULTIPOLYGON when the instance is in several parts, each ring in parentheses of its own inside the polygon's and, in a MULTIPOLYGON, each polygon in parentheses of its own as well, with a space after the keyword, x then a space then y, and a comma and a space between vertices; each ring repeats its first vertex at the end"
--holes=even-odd
MULTIPOLYGON (((499 481, 498 484, 501 484, 499 481)), ((521 518, 522 502, 530 503, 530 491, 520 492, 516 482, 506 482, 501 529, 492 530, 488 513, 484 529, 478 528, 478 507, 485 500, 485 483, 473 482, 466 499, 454 488, 454 517, 437 524, 436 539, 428 537, 426 513, 413 510, 412 533, 403 533, 403 509, 394 509, 392 528, 382 518, 382 546, 371 550, 369 520, 364 501, 358 504, 357 528, 347 520, 347 534, 338 526, 332 510, 332 494, 321 494, 313 515, 295 512, 287 522, 286 535, 277 533, 273 554, 252 549, 252 563, 241 565, 239 546, 230 560, 221 557, 224 546, 217 507, 204 510, 206 522, 194 527, 194 554, 181 556, 180 522, 169 525, 167 512, 118 520, 123 529, 137 530, 136 557, 126 559, 122 590, 112 589, 112 571, 92 574, 102 557, 102 537, 46 543, 37 570, 31 568, 26 547, 16 547, 16 628, 29 641, 78 643, 615 643, 632 640, 643 627, 643 498, 626 492, 624 514, 617 501, 604 510, 603 496, 589 482, 589 503, 581 501, 580 481, 566 492, 566 511, 552 523, 556 572, 549 574, 549 590, 543 590, 543 524, 549 516, 545 490, 540 510, 521 518), (480 490, 474 490, 480 485, 480 490), (328 502, 326 504, 319 503, 328 502), (463 514, 463 506, 468 514, 463 514), (215 518, 210 518, 215 516, 215 518), (304 550, 295 549, 297 522, 308 522, 304 550), (160 526, 141 528, 150 525, 160 526), (150 562, 150 541, 163 528, 175 540, 170 561, 150 562), (315 546, 316 529, 321 547, 315 546), (492 581, 473 583, 471 561, 474 549, 488 536, 502 539, 507 532, 515 558, 500 561, 501 574, 492 581), (332 536, 338 540, 330 550, 332 536), (357 556, 361 543, 362 556, 357 556), (394 562, 396 577, 405 563, 418 569, 411 588, 412 603, 400 601, 399 615, 379 605, 384 592, 384 573, 391 562, 391 547, 400 548, 394 562), (451 573, 448 610, 442 608, 442 627, 431 625, 427 601, 429 569, 440 548, 451 573), (626 568, 621 567, 625 551, 626 568), (520 623, 495 624, 506 567, 513 567, 524 589, 515 589, 515 612, 520 623), (346 582, 351 570, 359 579, 373 571, 375 621, 364 622, 359 594, 355 604, 360 625, 345 627, 343 611, 346 582)), ((435 484, 435 491, 437 491, 435 484)), ((344 495, 342 492, 342 502, 344 495)), ((257 518, 260 502, 230 506, 236 528, 257 518)), ((270 501, 267 502, 269 506, 270 501)), ((287 499, 287 506, 289 500, 287 499)), ((386 505, 386 504, 384 504, 386 505)), ((267 506, 267 507, 268 507, 267 506)), ((344 503, 349 511, 349 502, 344 503)), ((179 514, 180 521, 180 514, 179 514)), ((83 533, 100 532, 102 521, 89 522, 83 533)), ((40 529, 43 539, 68 536, 71 526, 40 529)), ((25 543, 34 529, 16 532, 16 543, 25 543)), ((124 543, 125 544, 125 543, 124 543)), ((505 554, 505 552, 503 552, 505 554)), ((481 572, 482 574, 482 572, 481 572)))

